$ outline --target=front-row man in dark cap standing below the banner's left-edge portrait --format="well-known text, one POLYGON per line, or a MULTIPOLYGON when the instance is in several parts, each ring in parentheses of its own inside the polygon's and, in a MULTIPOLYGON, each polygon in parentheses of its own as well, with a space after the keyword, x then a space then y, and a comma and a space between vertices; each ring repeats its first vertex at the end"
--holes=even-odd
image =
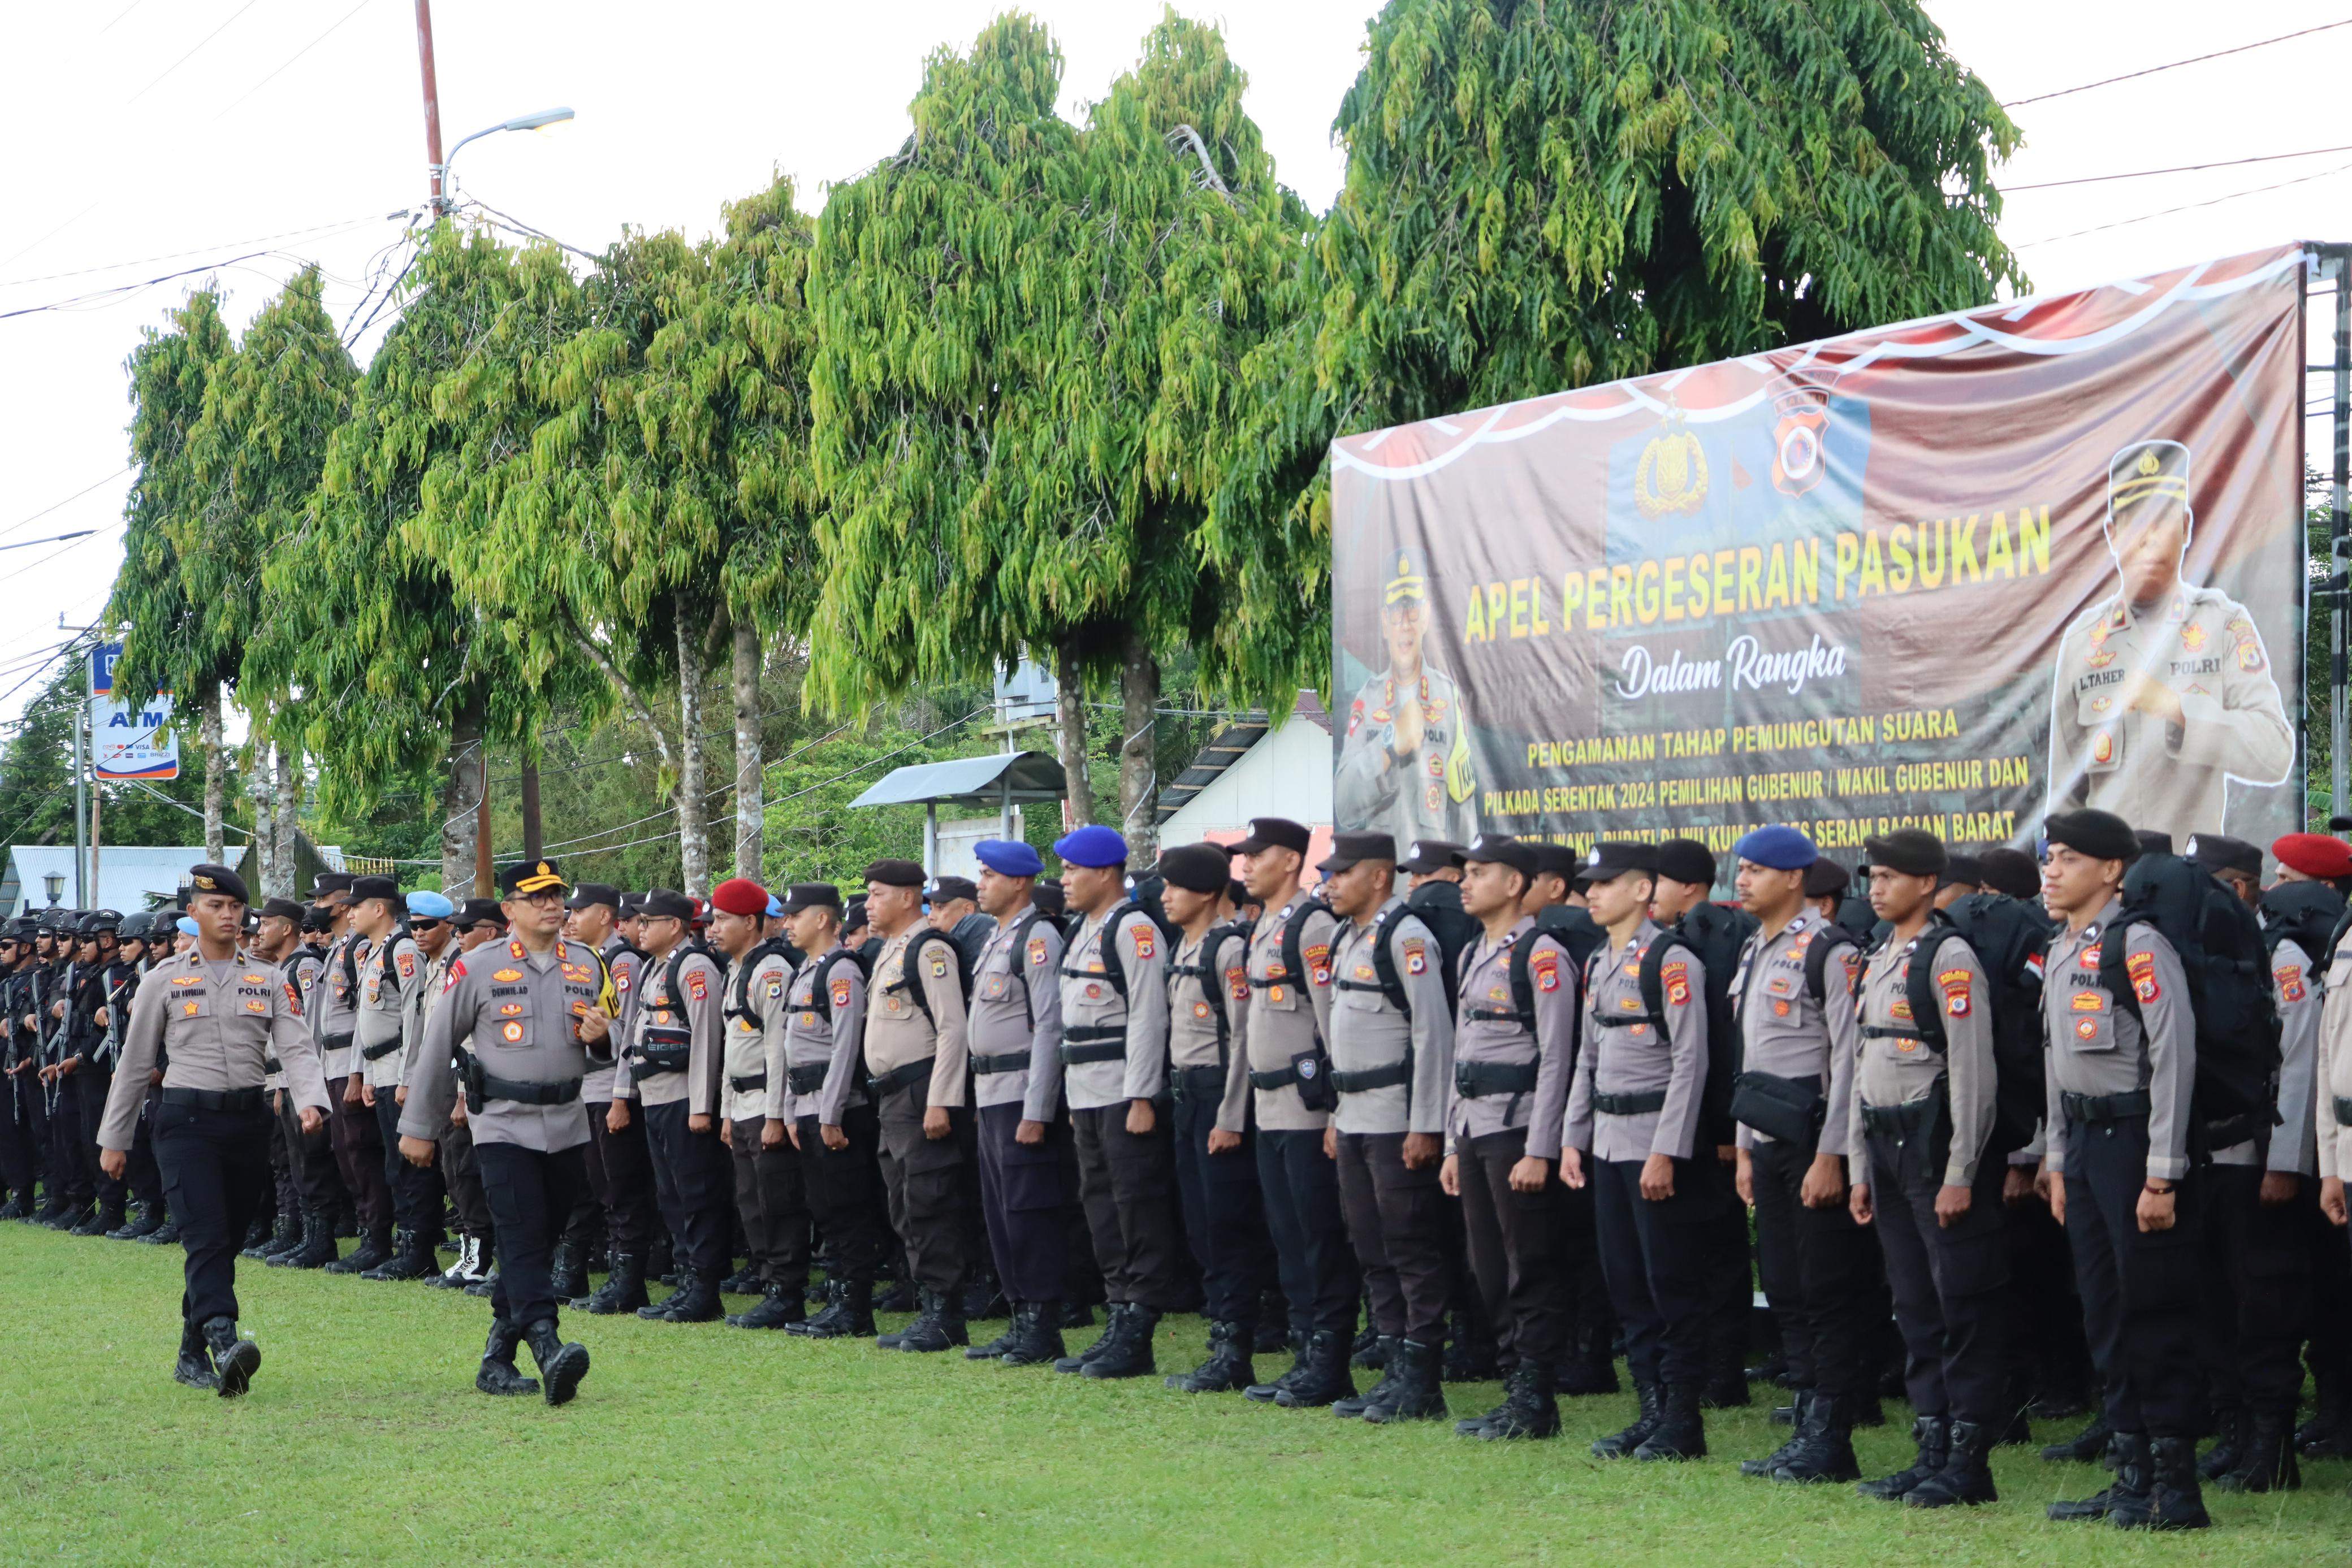
POLYGON ((1444 950, 1395 891, 1390 835, 1336 835, 1319 870, 1331 912, 1345 922, 1331 952, 1338 1112, 1324 1147, 1338 1164, 1348 1241, 1385 1352, 1371 1392, 1331 1410, 1374 1425, 1442 1418, 1439 1354, 1454 1286, 1451 1215, 1439 1187, 1454 1081, 1444 950))

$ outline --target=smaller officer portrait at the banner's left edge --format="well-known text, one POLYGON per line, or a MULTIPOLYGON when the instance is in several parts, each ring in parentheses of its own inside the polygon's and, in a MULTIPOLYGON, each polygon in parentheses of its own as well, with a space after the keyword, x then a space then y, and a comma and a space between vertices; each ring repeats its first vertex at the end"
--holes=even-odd
POLYGON ((1383 557, 1381 639, 1388 668, 1348 705, 1334 780, 1343 830, 1390 832, 1399 844, 1477 837, 1477 769, 1461 686, 1425 661, 1430 635, 1428 559, 1411 545, 1383 557))

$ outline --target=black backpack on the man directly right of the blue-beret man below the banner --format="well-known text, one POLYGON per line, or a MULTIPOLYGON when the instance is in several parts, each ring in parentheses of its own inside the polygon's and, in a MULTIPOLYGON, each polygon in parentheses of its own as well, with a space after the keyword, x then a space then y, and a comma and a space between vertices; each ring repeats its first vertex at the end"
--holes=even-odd
POLYGON ((1943 994, 1936 985, 1936 947, 1959 936, 1985 971, 1992 992, 1992 1140, 1987 1154, 2006 1157, 2034 1140, 2046 1110, 2042 1018, 2042 966, 2051 938, 2042 914, 2009 893, 1969 893, 1929 919, 1919 933, 1917 954, 1903 976, 1905 1001, 1919 1044, 1943 1056, 1943 994))

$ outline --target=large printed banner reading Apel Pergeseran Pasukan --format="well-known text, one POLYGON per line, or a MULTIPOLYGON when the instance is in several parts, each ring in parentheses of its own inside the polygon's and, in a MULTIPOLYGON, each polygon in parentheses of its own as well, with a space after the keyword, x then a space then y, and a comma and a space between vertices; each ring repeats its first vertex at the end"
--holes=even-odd
MULTIPOLYGON (((2303 827, 2300 249, 1331 444, 1336 820, 2303 827)), ((2185 846, 2185 844, 2183 844, 2185 846)))

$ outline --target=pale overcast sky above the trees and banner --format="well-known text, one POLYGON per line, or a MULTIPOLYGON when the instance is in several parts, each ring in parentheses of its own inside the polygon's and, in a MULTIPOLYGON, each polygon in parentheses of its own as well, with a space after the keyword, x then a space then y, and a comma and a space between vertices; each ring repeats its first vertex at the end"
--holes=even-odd
MULTIPOLYGON (((774 169, 816 209, 828 181, 898 148, 924 54, 967 47, 1000 9, 440 0, 442 143, 574 108, 569 125, 475 141, 456 158, 456 183, 461 197, 588 252, 621 226, 703 235, 722 202, 774 169)), ((1028 9, 1061 40, 1063 113, 1077 118, 1134 63, 1162 7, 1028 9)), ((1329 207, 1343 174, 1331 118, 1357 73, 1371 2, 1178 9, 1223 26, 1279 176, 1329 207)), ((2002 233, 2034 292, 2352 237, 2352 132, 2338 113, 2352 26, 2018 103, 2345 21, 2352 2, 1929 0, 1929 12, 1952 54, 2016 106, 2025 146, 1997 172, 2011 193, 2002 233), (2265 162, 2098 179, 2256 158, 2265 162), (2086 179, 2096 183, 2025 188, 2086 179)), ((0 9, 0 38, 16 61, 0 141, 19 148, 0 219, 5 722, 66 639, 59 621, 87 625, 106 604, 129 484, 122 362, 141 329, 207 277, 242 329, 287 275, 318 261, 327 308, 365 329, 365 357, 386 317, 367 327, 362 306, 381 299, 372 282, 397 266, 402 226, 426 197, 426 141, 414 0, 19 0, 0 9), (122 287, 181 268, 202 270, 122 287), (31 543, 82 529, 94 531, 31 543)), ((2321 336, 2314 362, 2324 357, 2321 336)), ((2324 402, 2310 442, 2326 451, 2324 402)))

